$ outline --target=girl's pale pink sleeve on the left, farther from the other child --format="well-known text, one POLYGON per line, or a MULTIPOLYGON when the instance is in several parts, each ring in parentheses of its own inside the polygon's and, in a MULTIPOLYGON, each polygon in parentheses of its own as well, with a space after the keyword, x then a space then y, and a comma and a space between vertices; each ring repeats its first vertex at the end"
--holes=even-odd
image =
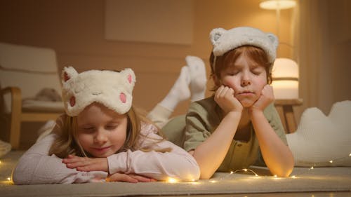
POLYGON ((50 134, 25 152, 13 170, 15 184, 83 183, 105 179, 107 172, 79 172, 66 168, 62 158, 48 156, 56 134, 50 134))

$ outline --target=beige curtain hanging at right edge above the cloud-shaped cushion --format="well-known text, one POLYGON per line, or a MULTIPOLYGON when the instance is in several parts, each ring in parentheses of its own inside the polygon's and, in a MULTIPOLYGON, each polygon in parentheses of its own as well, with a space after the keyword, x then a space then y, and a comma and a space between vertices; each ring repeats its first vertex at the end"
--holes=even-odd
POLYGON ((300 0, 300 113, 318 107, 328 115, 335 102, 351 100, 350 10, 348 0, 300 0))

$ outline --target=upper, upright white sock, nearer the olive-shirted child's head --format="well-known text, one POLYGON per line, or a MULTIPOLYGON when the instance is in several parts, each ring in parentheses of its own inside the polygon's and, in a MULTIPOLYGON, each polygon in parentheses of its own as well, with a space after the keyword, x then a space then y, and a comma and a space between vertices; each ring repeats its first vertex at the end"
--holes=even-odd
POLYGON ((196 56, 185 57, 187 66, 190 70, 190 91, 192 93, 191 100, 202 100, 205 97, 206 91, 206 68, 204 61, 196 56))

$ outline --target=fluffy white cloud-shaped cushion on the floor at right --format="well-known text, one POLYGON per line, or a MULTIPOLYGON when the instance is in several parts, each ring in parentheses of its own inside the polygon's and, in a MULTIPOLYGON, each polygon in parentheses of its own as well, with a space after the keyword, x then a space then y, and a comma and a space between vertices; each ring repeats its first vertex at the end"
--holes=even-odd
POLYGON ((351 166, 350 112, 350 100, 333 104, 328 116, 306 109, 296 132, 286 135, 295 165, 351 166))

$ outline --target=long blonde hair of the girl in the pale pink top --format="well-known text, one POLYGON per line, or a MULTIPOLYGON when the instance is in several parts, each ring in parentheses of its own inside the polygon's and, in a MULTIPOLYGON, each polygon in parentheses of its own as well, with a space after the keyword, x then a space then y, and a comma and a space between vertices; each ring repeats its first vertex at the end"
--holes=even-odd
MULTIPOLYGON (((119 149, 119 152, 130 149, 135 151, 140 149, 138 147, 138 137, 140 137, 141 122, 152 123, 141 113, 138 113, 138 109, 131 107, 126 113, 127 116, 127 130, 126 130, 126 142, 124 146, 119 149)), ((153 123, 152 123, 153 124, 153 123)), ((159 129, 158 129, 159 130, 159 129)), ((160 133, 159 133, 160 134, 160 133)), ((161 135, 161 134, 160 134, 161 135)), ((162 136, 162 135, 161 135, 162 136)), ((161 140, 164 140, 162 137, 161 140)), ((157 140, 157 142, 161 141, 157 140)), ((155 143, 157 143, 155 142, 155 143)), ((142 151, 150 151, 151 149, 140 149, 142 151)), ((161 149, 156 151, 169 151, 170 149, 161 149)), ((63 116, 62 128, 60 133, 55 139, 49 150, 49 155, 55 154, 59 158, 66 158, 69 154, 76 156, 90 156, 84 151, 77 140, 77 116, 63 116)))

